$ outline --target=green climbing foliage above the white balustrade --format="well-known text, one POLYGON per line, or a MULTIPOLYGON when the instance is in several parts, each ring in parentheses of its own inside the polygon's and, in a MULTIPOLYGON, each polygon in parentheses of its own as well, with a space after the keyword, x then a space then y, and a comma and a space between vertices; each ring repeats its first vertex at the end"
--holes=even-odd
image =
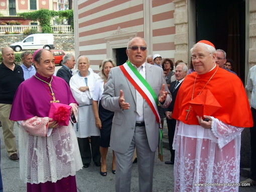
MULTIPOLYGON (((71 19, 73 21, 73 10, 65 11, 51 11, 47 9, 41 9, 34 12, 19 13, 18 16, 24 17, 26 20, 39 21, 42 28, 42 33, 52 33, 51 20, 54 17, 71 19)), ((71 27, 74 24, 72 22, 71 27)))

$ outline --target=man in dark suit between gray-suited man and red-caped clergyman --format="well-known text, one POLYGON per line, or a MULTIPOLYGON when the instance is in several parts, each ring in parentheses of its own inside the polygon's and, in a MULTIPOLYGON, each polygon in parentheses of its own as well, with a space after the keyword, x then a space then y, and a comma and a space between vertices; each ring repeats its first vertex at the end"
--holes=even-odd
POLYGON ((174 107, 178 90, 184 78, 186 77, 187 72, 188 72, 187 65, 185 63, 179 63, 175 69, 176 81, 173 81, 169 87, 169 90, 172 94, 173 101, 165 111, 165 115, 166 115, 166 122, 168 127, 168 139, 169 139, 169 148, 171 152, 171 160, 165 161, 165 164, 174 164, 175 150, 172 149, 172 144, 173 144, 173 137, 175 133, 176 120, 172 118, 172 113, 173 113, 173 107, 174 107))

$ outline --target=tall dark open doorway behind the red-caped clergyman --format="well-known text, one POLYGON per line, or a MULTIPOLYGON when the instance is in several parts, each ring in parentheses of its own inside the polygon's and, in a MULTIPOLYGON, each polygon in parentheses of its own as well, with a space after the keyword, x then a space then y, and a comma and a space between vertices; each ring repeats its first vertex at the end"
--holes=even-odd
POLYGON ((196 41, 209 40, 234 61, 233 71, 245 77, 245 1, 196 0, 196 41))

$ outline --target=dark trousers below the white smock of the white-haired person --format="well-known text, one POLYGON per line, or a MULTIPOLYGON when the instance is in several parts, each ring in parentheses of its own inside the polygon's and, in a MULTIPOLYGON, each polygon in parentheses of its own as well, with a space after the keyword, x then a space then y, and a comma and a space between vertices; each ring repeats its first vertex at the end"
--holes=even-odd
POLYGON ((91 143, 89 143, 89 137, 77 138, 78 146, 82 158, 83 164, 93 162, 100 162, 99 152, 99 136, 90 136, 91 143))

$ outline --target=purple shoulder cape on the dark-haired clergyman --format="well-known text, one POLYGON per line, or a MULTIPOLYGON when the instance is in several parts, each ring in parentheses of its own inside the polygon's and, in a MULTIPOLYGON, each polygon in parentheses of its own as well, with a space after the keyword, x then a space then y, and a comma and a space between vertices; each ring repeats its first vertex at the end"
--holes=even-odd
MULTIPOLYGON (((36 76, 47 83, 51 80, 51 78, 43 77, 38 73, 36 73, 36 76)), ((51 85, 56 100, 66 105, 70 103, 78 104, 67 83, 62 81, 63 79, 60 77, 52 77, 53 81, 51 85)), ((47 117, 51 106, 50 101, 52 100, 53 98, 49 86, 33 76, 19 86, 13 102, 10 119, 19 121, 30 119, 34 116, 47 117)))

